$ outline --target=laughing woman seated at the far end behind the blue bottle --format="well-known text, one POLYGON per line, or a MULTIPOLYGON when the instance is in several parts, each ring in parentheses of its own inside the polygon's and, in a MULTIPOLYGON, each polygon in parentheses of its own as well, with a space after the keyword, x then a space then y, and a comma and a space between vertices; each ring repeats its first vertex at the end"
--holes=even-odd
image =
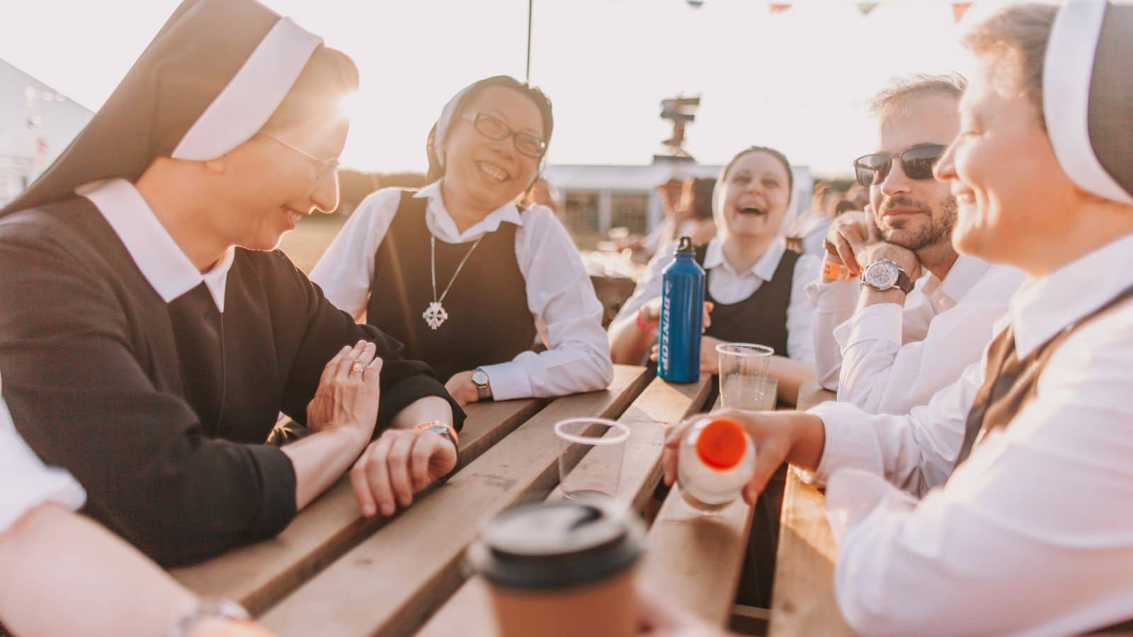
MULTIPOLYGON (((713 304, 700 343, 700 371, 718 371, 721 342, 766 345, 776 353, 768 373, 780 381, 780 399, 790 404, 799 385, 815 379, 804 287, 819 267, 816 257, 787 250, 778 235, 793 185, 791 164, 778 151, 752 146, 732 158, 716 185, 719 233, 697 249, 697 262, 708 277, 705 300, 713 304)), ((640 363, 656 340, 662 271, 672 261, 671 250, 654 258, 611 324, 615 363, 640 363)))

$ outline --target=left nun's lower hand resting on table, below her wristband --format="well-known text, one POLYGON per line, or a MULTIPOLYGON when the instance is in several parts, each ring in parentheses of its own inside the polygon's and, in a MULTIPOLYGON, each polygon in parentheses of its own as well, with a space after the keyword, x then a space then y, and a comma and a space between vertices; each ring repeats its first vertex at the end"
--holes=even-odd
POLYGON ((390 517, 457 466, 457 447, 429 431, 386 430, 350 469, 358 508, 367 518, 390 517))

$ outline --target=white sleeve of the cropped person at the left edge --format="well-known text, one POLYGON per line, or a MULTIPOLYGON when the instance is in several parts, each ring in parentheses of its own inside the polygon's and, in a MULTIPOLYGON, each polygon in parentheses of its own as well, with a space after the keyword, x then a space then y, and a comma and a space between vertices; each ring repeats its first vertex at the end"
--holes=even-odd
POLYGON ((0 401, 0 533, 44 502, 78 509, 85 500, 86 493, 69 473, 43 465, 0 401))

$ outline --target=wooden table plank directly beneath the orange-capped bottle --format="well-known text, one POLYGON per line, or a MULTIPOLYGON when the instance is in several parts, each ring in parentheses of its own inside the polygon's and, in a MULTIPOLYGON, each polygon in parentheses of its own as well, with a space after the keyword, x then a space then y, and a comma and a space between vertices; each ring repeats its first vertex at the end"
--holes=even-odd
MULTIPOLYGON (((774 409, 778 382, 768 379, 763 409, 774 409)), ((726 626, 751 530, 751 507, 742 499, 715 513, 684 502, 674 485, 649 529, 639 577, 649 587, 714 626, 726 626)))

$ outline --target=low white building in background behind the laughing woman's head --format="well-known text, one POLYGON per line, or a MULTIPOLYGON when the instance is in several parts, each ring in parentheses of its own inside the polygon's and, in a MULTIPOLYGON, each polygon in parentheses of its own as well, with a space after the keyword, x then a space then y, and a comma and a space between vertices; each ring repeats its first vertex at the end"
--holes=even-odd
MULTIPOLYGON (((606 235, 624 227, 645 233, 661 223, 664 212, 656 187, 670 179, 719 177, 721 165, 692 162, 649 165, 555 164, 546 178, 563 196, 563 216, 576 233, 606 235)), ((783 228, 810 205, 813 180, 807 167, 792 167, 794 196, 783 228)))

